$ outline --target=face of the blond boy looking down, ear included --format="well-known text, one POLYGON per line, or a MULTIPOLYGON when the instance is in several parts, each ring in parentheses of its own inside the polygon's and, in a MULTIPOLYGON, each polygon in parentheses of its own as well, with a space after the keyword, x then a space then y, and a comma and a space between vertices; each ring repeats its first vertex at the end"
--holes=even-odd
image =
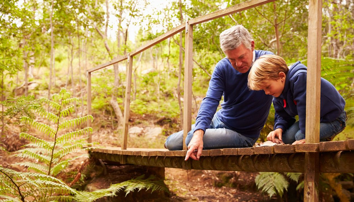
POLYGON ((261 85, 262 90, 267 95, 271 95, 273 97, 279 97, 280 94, 284 90, 285 85, 285 73, 279 73, 279 79, 267 79, 264 81, 263 85, 261 85))

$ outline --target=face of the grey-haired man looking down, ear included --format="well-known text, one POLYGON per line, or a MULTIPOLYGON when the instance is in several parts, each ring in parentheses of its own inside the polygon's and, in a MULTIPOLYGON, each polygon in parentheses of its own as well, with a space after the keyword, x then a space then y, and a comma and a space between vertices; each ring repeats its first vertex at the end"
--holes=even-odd
POLYGON ((246 73, 252 63, 253 50, 255 50, 255 42, 251 42, 251 49, 245 48, 243 44, 234 50, 225 51, 232 67, 240 73, 246 73))

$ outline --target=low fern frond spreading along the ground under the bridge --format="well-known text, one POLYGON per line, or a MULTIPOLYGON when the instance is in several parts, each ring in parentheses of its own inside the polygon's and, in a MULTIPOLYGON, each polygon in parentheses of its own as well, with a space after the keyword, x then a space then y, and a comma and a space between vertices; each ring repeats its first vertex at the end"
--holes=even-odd
POLYGON ((100 189, 93 192, 82 192, 82 195, 76 195, 75 199, 82 202, 92 202, 102 197, 116 196, 120 191, 125 191, 125 195, 130 192, 138 191, 142 189, 153 191, 166 191, 169 189, 166 187, 162 180, 157 180, 154 175, 150 175, 147 179, 143 179, 144 175, 137 177, 135 179, 127 180, 122 183, 113 184, 107 189, 100 189))

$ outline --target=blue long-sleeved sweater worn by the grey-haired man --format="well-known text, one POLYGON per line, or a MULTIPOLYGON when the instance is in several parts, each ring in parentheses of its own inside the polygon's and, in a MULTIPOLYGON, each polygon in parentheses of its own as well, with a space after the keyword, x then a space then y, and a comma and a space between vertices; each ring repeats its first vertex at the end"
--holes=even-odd
MULTIPOLYGON (((256 57, 273 54, 269 51, 255 50, 256 57)), ((251 91, 247 87, 248 74, 235 70, 225 57, 220 60, 213 71, 206 97, 200 104, 196 117, 195 129, 204 132, 210 127, 221 97, 224 102, 217 111, 217 117, 234 131, 250 138, 258 138, 267 121, 272 96, 263 91, 251 91)))

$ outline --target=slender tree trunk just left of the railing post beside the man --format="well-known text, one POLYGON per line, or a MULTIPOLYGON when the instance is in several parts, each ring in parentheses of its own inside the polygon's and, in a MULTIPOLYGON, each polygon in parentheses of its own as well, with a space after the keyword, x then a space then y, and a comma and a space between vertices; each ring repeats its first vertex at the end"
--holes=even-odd
MULTIPOLYGON (((179 0, 178 2, 178 6, 179 6, 179 21, 181 22, 181 24, 183 23, 183 16, 182 16, 182 1, 179 0)), ((183 31, 181 31, 179 33, 179 44, 181 44, 181 46, 179 46, 179 66, 178 66, 178 83, 177 83, 177 99, 178 99, 178 105, 179 105, 179 117, 181 120, 181 124, 179 126, 179 129, 182 130, 183 127, 183 107, 182 107, 182 103, 181 103, 181 77, 182 77, 182 62, 183 62, 183 56, 182 56, 182 44, 183 44, 183 31)))

